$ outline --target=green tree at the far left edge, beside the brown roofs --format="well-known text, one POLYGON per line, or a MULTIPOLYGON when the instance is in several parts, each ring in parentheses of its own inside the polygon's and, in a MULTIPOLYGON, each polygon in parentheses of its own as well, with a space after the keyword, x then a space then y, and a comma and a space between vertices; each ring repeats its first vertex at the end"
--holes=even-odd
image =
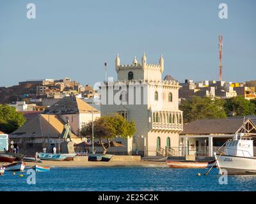
POLYGON ((0 131, 10 134, 22 126, 26 119, 14 107, 0 104, 0 131))

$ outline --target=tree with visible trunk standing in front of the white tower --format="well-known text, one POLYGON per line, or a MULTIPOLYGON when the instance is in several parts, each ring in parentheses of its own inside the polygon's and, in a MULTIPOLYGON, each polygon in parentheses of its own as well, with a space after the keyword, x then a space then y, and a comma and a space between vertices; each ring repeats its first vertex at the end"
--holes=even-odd
MULTIPOLYGON (((135 123, 133 121, 127 122, 127 120, 119 114, 102 116, 93 121, 94 138, 99 140, 103 149, 103 154, 106 154, 113 138, 129 138, 135 133, 135 131, 135 123), (103 142, 104 139, 107 143, 103 142)), ((81 135, 92 137, 92 122, 83 126, 81 129, 81 135)))

